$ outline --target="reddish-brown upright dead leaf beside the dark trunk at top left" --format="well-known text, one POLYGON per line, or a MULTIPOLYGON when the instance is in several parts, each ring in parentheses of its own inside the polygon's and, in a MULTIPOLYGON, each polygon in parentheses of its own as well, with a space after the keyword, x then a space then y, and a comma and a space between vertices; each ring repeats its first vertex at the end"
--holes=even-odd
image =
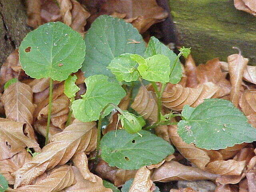
POLYGON ((26 0, 26 8, 27 8, 27 24, 32 28, 37 28, 42 25, 41 22, 41 1, 40 0, 26 0))

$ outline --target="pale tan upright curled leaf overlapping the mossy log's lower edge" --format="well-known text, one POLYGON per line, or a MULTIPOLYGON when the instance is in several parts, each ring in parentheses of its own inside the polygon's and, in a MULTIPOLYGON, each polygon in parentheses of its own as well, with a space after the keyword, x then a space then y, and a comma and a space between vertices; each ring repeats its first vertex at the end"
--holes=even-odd
POLYGON ((248 63, 248 59, 244 58, 239 54, 233 54, 228 56, 228 70, 230 74, 230 101, 234 104, 235 107, 238 107, 240 90, 242 88, 242 77, 244 74, 244 69, 248 63))

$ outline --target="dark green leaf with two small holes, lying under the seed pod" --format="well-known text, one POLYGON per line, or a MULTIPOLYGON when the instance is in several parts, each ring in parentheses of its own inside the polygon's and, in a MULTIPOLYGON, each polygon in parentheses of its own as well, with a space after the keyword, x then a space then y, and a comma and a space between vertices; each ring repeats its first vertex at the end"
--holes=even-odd
POLYGON ((110 131, 102 137, 101 157, 109 166, 133 170, 156 164, 174 152, 174 148, 162 138, 141 130, 129 134, 125 130, 110 131))

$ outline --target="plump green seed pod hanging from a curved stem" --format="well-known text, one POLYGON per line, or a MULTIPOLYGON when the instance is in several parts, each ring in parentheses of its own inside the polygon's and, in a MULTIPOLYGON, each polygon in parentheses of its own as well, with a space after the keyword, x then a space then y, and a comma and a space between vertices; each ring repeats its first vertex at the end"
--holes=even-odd
POLYGON ((124 130, 130 134, 138 133, 145 123, 143 119, 137 118, 134 114, 129 112, 124 112, 124 114, 120 115, 120 120, 124 130))

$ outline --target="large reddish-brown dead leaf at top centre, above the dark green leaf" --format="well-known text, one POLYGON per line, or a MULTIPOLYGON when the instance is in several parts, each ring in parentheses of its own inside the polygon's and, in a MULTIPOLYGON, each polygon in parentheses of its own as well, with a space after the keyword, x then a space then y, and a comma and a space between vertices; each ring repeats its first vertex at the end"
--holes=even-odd
POLYGON ((150 26, 168 17, 168 12, 158 6, 156 0, 95 0, 85 1, 86 7, 92 13, 90 23, 102 14, 125 16, 126 22, 131 23, 140 33, 146 32, 150 26), (116 14, 118 13, 118 14, 116 14))

